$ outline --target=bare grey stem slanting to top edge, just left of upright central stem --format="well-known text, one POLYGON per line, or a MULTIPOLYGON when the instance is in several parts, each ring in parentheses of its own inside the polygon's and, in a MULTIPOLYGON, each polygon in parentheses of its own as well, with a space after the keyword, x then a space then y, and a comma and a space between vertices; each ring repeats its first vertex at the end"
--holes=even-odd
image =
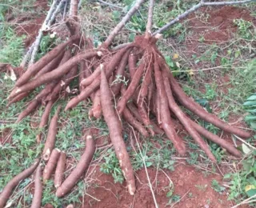
POLYGON ((145 0, 138 0, 135 5, 127 12, 126 16, 122 18, 122 21, 118 23, 117 26, 115 26, 114 30, 110 32, 110 35, 108 38, 106 38, 106 41, 103 43, 104 46, 108 47, 110 46, 111 42, 113 42, 115 36, 117 36, 118 32, 122 30, 122 27, 126 25, 126 22, 130 20, 130 18, 134 15, 134 13, 138 10, 138 8, 142 5, 142 3, 145 0))

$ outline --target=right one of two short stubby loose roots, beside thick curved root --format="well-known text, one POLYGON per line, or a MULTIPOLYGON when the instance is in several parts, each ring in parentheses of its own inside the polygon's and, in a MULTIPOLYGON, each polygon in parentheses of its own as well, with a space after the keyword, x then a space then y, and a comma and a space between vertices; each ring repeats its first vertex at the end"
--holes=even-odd
POLYGON ((57 163, 57 167, 56 167, 55 175, 54 175, 55 188, 58 188, 59 186, 62 185, 65 167, 66 167, 66 153, 61 152, 61 155, 58 158, 58 163, 57 163))

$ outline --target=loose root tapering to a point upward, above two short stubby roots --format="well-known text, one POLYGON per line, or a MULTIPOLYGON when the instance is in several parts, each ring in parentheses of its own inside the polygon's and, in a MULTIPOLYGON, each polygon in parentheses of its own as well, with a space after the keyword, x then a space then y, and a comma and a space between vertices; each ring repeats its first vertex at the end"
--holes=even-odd
POLYGON ((46 138, 46 144, 44 147, 44 150, 42 151, 42 158, 45 161, 48 161, 50 158, 50 154, 52 150, 54 150, 55 140, 56 140, 56 134, 58 130, 58 114, 61 110, 62 106, 58 106, 54 117, 50 121, 49 130, 46 138))

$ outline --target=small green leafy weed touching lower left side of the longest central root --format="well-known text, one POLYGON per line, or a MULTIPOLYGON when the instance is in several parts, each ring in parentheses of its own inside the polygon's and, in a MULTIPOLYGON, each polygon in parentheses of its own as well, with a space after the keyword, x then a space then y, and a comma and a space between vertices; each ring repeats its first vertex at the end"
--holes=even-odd
POLYGON ((112 174, 114 182, 122 183, 124 181, 122 170, 119 166, 118 158, 116 157, 114 150, 107 150, 107 156, 104 157, 105 162, 102 163, 100 170, 104 174, 112 174))

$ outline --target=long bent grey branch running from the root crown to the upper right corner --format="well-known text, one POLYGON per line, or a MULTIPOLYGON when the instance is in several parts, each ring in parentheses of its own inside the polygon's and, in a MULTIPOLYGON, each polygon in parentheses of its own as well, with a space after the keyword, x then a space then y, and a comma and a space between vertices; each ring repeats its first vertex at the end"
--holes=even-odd
POLYGON ((162 34, 162 32, 164 32, 165 30, 168 30, 170 26, 179 22, 182 18, 186 18, 187 15, 198 10, 202 6, 226 6, 226 5, 235 5, 235 4, 243 4, 243 3, 250 3, 250 2, 255 2, 255 0, 245 0, 245 1, 237 1, 237 2, 204 2, 204 1, 201 1, 197 5, 190 8, 189 10, 186 10, 184 13, 178 15, 177 18, 174 18, 169 23, 167 23, 165 26, 162 26, 160 29, 155 31, 153 35, 162 34))

